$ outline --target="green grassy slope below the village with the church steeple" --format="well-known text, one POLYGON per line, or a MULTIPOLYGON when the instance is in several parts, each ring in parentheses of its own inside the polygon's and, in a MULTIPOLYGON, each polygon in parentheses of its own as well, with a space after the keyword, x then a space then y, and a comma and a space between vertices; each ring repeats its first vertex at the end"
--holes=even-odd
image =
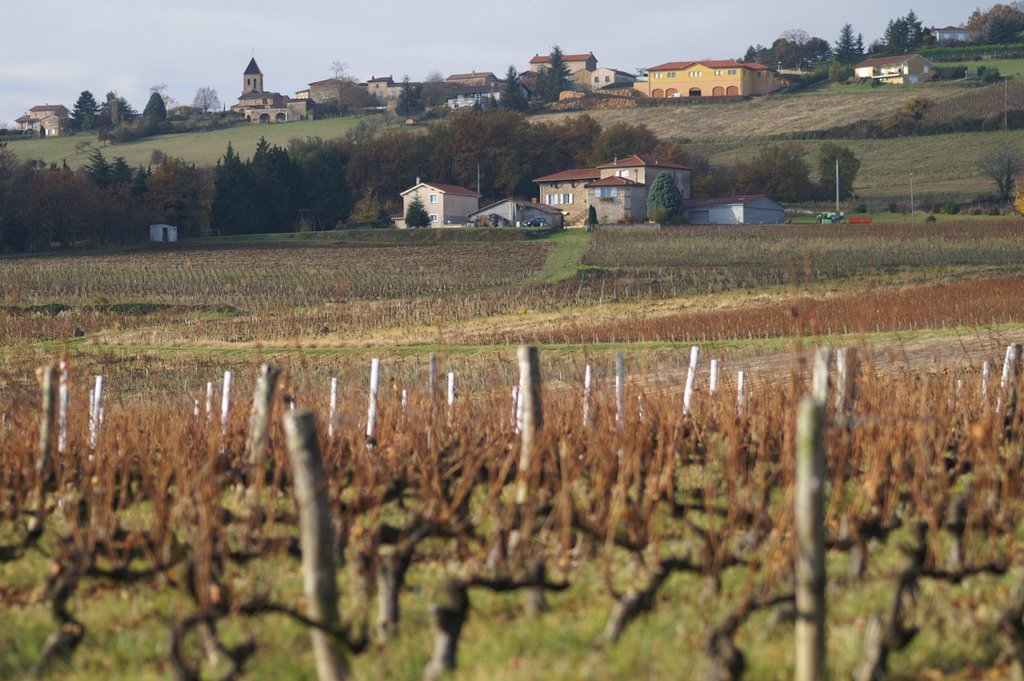
POLYGON ((274 125, 243 125, 212 132, 158 135, 114 145, 99 142, 96 135, 80 133, 68 137, 14 140, 9 142, 9 148, 23 160, 39 160, 47 164, 67 162, 72 168, 84 165, 91 150, 97 145, 108 159, 122 156, 132 167, 148 165, 155 150, 189 163, 212 166, 224 156, 228 142, 234 146, 239 156, 245 159, 256 151, 256 143, 260 137, 266 137, 271 144, 288 146, 288 141, 295 138, 341 137, 362 121, 372 125, 383 123, 380 117, 347 117, 274 125))

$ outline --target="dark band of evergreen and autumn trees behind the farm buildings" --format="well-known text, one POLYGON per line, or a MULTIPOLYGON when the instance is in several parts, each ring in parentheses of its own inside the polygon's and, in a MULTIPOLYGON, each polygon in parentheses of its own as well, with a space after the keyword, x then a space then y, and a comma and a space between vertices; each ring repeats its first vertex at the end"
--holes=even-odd
MULTIPOLYGON (((0 250, 127 244, 146 239, 151 223, 176 224, 182 238, 385 225, 401 210, 399 194, 417 177, 478 186, 484 202, 527 198, 537 196, 537 177, 632 154, 691 166, 695 197, 768 194, 793 202, 835 193, 831 165, 813 179, 796 144, 768 145, 750 160, 713 165, 643 124, 602 127, 589 116, 530 123, 497 109, 462 112, 425 131, 359 125, 346 137, 293 139, 287 147, 261 139, 248 159, 229 144, 213 168, 159 152, 148 166, 132 168, 96 148, 76 170, 18 162, 0 145, 0 250)), ((828 154, 836 156, 835 150, 828 154)), ((855 175, 854 165, 844 167, 844 196, 855 175)))

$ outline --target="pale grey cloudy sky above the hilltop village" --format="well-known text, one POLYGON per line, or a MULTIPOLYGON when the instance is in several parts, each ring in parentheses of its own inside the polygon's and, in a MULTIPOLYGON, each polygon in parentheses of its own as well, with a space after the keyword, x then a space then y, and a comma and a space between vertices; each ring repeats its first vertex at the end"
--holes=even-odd
MULTIPOLYGON (((993 3, 982 3, 983 8, 993 3)), ((553 45, 593 52, 599 67, 634 72, 666 61, 738 58, 752 44, 771 45, 802 29, 835 43, 844 24, 864 44, 889 19, 913 9, 926 27, 958 26, 978 0, 833 3, 647 0, 408 0, 291 2, 249 0, 48 0, 18 12, 0 39, 0 127, 37 104, 71 110, 89 90, 102 101, 116 91, 141 111, 151 87, 166 85, 190 104, 200 87, 226 105, 242 92, 255 56, 266 90, 293 95, 330 78, 333 62, 360 81, 374 76, 424 80, 471 71, 503 77, 525 71, 553 45), (424 7, 429 7, 425 11, 424 7)))

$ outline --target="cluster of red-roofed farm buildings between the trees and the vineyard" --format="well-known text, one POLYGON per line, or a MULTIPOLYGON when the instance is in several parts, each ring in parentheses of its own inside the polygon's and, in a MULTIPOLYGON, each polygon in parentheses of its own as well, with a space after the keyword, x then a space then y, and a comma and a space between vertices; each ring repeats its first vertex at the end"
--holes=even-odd
POLYGON ((692 169, 672 161, 633 155, 594 168, 563 170, 534 181, 539 198, 508 199, 479 208, 480 196, 464 186, 421 182, 401 193, 404 216, 417 199, 430 216, 431 226, 524 225, 530 222, 554 227, 586 223, 590 208, 598 224, 635 224, 647 219, 647 195, 660 173, 668 173, 683 197, 691 224, 777 224, 785 221, 784 208, 763 195, 692 199, 692 169))

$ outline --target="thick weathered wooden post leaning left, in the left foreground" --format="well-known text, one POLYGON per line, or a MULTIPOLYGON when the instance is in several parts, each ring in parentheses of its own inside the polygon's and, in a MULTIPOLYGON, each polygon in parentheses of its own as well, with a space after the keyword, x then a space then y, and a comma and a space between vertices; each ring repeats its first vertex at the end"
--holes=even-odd
MULTIPOLYGON (((285 435, 295 477, 295 497, 299 504, 306 613, 324 627, 337 630, 341 615, 335 583, 334 531, 331 528, 328 478, 316 441, 316 423, 312 412, 303 410, 286 414, 285 435)), ((319 629, 312 630, 310 636, 317 678, 321 681, 347 679, 348 661, 335 639, 319 629)))

